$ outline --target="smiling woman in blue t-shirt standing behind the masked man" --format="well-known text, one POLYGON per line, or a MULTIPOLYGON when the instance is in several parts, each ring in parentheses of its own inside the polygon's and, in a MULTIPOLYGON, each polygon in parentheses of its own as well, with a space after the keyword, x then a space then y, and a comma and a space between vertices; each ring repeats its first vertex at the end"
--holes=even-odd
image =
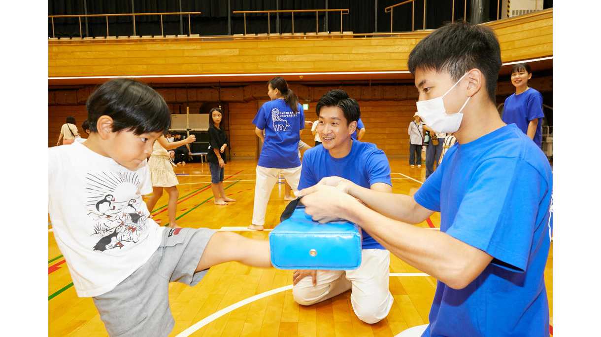
POLYGON ((516 92, 505 99, 503 105, 503 122, 515 123, 517 128, 528 135, 534 143, 541 147, 543 142, 543 95, 534 88, 528 87, 528 79, 532 78, 528 63, 519 63, 511 70, 511 84, 516 92))

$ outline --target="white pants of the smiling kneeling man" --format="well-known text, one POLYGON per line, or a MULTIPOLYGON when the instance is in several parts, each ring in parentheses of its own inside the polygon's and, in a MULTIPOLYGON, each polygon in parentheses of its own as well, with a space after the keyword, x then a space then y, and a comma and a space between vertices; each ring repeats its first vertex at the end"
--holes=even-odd
POLYGON ((317 285, 311 276, 292 287, 294 301, 313 305, 349 289, 350 303, 359 320, 377 323, 388 315, 394 298, 388 289, 390 253, 384 249, 364 249, 356 270, 318 270, 317 285))

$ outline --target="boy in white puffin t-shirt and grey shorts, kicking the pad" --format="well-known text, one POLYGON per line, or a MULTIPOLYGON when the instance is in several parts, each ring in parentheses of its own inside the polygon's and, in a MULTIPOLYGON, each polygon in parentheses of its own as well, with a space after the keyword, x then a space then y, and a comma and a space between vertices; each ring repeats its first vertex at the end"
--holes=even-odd
POLYGON ((168 283, 195 285, 209 267, 270 267, 268 241, 206 228, 159 227, 146 158, 171 122, 148 85, 113 79, 87 102, 90 137, 51 147, 49 214, 80 297, 93 297, 109 335, 168 335, 168 283))

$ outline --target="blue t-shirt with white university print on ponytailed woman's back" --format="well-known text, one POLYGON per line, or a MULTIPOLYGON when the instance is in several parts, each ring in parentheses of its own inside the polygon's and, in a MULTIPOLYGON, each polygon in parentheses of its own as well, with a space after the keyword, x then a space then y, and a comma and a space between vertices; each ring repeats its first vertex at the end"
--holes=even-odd
POLYGON ((305 114, 298 104, 294 113, 283 99, 274 99, 261 106, 252 123, 265 130, 265 141, 258 165, 271 169, 301 166, 299 141, 305 128, 305 114))

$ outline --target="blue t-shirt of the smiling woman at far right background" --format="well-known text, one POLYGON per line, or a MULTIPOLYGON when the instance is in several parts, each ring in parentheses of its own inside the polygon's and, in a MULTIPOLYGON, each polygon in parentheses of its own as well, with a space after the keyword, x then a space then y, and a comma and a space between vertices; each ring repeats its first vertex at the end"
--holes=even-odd
POLYGON ((515 123, 523 133, 528 133, 528 124, 531 120, 538 118, 534 143, 541 146, 543 142, 543 95, 533 88, 516 95, 515 93, 505 99, 503 105, 503 122, 515 123))

